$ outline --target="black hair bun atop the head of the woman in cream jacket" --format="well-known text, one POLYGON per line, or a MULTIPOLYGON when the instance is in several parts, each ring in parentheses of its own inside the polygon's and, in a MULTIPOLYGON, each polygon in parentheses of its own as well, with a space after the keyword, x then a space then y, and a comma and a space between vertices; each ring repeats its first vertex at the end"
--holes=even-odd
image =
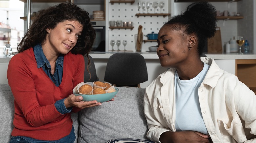
POLYGON ((207 37, 214 36, 216 31, 216 9, 209 2, 195 2, 190 4, 184 16, 190 18, 201 32, 207 37))

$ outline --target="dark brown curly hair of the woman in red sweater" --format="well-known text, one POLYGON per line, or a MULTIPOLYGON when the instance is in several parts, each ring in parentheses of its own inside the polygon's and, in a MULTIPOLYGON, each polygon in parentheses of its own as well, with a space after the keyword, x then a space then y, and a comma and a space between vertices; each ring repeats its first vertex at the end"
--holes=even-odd
POLYGON ((82 34, 79 36, 71 53, 87 56, 95 40, 95 31, 92 27, 89 13, 70 3, 61 3, 38 11, 33 23, 17 47, 18 52, 23 52, 39 43, 43 44, 47 35, 45 29, 53 29, 58 23, 65 20, 75 20, 83 25, 82 34))

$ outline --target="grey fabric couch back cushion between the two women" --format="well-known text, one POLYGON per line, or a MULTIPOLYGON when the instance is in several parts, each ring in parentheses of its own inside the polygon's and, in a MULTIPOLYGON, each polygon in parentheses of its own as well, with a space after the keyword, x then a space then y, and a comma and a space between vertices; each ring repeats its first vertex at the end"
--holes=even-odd
POLYGON ((115 101, 79 112, 78 142, 104 143, 117 138, 146 140, 148 131, 143 111, 145 89, 117 87, 115 101))

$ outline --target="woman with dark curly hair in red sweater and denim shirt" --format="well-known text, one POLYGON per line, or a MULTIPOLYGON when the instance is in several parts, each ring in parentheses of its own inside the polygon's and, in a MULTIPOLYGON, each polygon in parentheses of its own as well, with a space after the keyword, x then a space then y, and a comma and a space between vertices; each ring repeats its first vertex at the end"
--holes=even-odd
POLYGON ((10 143, 74 142, 71 111, 101 105, 72 94, 83 82, 83 55, 88 58, 94 39, 88 12, 76 5, 38 12, 8 65, 15 98, 10 143))

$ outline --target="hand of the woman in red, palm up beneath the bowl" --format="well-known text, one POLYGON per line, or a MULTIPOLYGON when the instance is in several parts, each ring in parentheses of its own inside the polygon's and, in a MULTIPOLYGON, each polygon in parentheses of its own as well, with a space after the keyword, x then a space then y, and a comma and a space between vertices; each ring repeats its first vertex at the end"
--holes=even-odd
POLYGON ((101 103, 97 102, 96 100, 82 101, 82 99, 83 99, 82 96, 75 96, 74 94, 71 94, 71 95, 69 95, 68 98, 66 98, 64 100, 64 104, 65 104, 66 108, 77 107, 80 109, 101 105, 101 103))

